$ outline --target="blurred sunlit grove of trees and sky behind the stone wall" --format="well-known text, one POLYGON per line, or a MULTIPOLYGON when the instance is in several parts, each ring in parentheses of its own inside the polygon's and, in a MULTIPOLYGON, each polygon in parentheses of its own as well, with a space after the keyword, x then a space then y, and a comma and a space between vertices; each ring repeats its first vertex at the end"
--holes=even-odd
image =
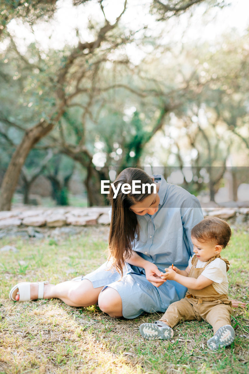
POLYGON ((12 0, 0 16, 0 210, 105 205, 100 181, 128 166, 202 203, 249 200, 247 0, 12 0))

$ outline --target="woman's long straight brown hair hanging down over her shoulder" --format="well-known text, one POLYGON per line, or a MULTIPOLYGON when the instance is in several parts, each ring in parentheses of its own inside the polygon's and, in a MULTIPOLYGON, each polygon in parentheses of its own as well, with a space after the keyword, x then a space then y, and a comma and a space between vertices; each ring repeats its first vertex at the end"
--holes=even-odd
MULTIPOLYGON (((127 168, 124 169, 113 182, 115 188, 119 183, 121 186, 116 198, 114 199, 113 188, 110 187, 108 199, 111 203, 111 224, 109 234, 109 250, 110 258, 112 258, 113 266, 123 276, 123 267, 125 259, 132 255, 132 248, 135 239, 135 235, 139 237, 139 227, 136 214, 130 210, 130 206, 141 202, 149 195, 148 188, 145 188, 144 194, 133 194, 132 191, 128 194, 124 194, 121 191, 121 187, 124 183, 129 183, 132 187, 132 181, 141 181, 141 185, 144 183, 151 184, 153 180, 145 173, 144 170, 138 168, 127 168)), ((138 186, 138 184, 136 184, 138 186)), ((139 187, 136 187, 139 190, 139 187)), ((142 186, 141 186, 142 191, 142 186)))

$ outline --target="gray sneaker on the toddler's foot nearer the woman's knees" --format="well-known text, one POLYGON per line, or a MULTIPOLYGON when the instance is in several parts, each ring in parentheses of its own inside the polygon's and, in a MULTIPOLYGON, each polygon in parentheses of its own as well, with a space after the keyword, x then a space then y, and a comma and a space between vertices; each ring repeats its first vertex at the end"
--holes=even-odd
POLYGON ((139 331, 142 337, 147 340, 166 340, 174 335, 173 329, 162 321, 156 321, 154 324, 142 324, 139 327, 139 331))

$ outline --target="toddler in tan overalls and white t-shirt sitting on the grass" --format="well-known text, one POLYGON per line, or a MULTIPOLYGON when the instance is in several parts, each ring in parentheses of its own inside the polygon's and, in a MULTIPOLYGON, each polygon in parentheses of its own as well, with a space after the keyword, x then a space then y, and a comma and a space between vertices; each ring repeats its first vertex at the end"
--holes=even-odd
POLYGON ((227 271, 229 262, 220 253, 231 237, 230 226, 216 217, 206 217, 191 230, 194 255, 185 270, 170 266, 162 279, 176 281, 188 288, 185 298, 172 303, 154 324, 140 326, 145 339, 170 339, 173 327, 181 320, 206 321, 214 335, 207 346, 218 349, 231 344, 235 332, 230 324, 231 301, 228 300, 227 271))

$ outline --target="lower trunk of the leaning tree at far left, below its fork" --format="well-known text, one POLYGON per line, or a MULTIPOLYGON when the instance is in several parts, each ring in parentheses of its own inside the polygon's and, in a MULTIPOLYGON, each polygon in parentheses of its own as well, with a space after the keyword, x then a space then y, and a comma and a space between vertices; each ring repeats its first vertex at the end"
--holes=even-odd
POLYGON ((24 165, 30 150, 34 147, 34 144, 39 142, 40 139, 42 139, 53 129, 55 123, 58 121, 59 117, 61 117, 63 111, 64 109, 61 108, 56 113, 56 118, 54 118, 53 121, 39 122, 37 125, 25 132, 21 143, 13 153, 13 156, 3 178, 0 190, 0 211, 11 209, 12 196, 16 190, 16 185, 18 183, 22 166, 24 165))

